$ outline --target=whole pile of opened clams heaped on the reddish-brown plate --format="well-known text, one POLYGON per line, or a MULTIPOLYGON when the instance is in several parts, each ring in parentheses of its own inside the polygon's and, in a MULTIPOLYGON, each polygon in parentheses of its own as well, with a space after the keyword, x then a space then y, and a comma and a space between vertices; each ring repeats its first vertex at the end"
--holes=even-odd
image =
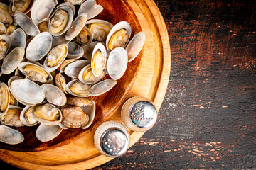
POLYGON ((13 126, 38 125, 46 142, 92 124, 96 106, 87 97, 110 91, 145 42, 143 32, 131 38, 126 21, 94 19, 102 10, 95 0, 0 3, 0 81, 9 75, 0 82, 1 142, 23 142, 13 126))

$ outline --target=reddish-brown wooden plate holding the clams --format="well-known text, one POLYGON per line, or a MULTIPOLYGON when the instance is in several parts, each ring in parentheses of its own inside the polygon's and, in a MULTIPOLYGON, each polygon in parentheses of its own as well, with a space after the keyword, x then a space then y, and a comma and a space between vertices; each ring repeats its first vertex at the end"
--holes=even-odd
MULTIPOLYGON (((60 1, 58 4, 60 4, 60 1)), ((129 6, 127 1, 97 0, 97 4, 103 6, 104 10, 96 18, 109 21, 113 25, 119 21, 127 21, 132 27, 131 37, 133 37, 134 34, 142 31, 139 21, 137 20, 134 11, 129 6)), ((139 72, 143 56, 144 50, 140 52, 139 56, 135 60, 128 63, 127 71, 121 79, 117 80, 117 84, 113 89, 105 94, 102 94, 101 96, 92 97, 96 103, 96 115, 95 120, 89 128, 85 130, 81 128, 70 128, 68 130, 63 130, 58 137, 55 137, 55 139, 50 140, 49 142, 41 142, 36 138, 36 129, 38 128, 38 125, 33 127, 15 128, 24 135, 25 140, 18 145, 6 145, 0 142, 0 148, 26 152, 53 149, 55 147, 67 145, 68 143, 87 135, 87 133, 91 132, 92 130, 95 130, 99 125, 110 118, 110 116, 122 104, 127 94, 132 89, 134 81, 137 78, 137 73, 139 72)), ((9 77, 1 77, 0 81, 5 79, 6 82, 8 78, 9 77)))

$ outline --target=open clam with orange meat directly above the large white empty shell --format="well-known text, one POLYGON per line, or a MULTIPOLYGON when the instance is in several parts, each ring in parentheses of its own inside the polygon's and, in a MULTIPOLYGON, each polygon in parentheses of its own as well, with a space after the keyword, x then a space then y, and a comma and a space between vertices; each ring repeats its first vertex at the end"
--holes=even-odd
POLYGON ((18 64, 18 69, 32 81, 38 81, 40 83, 50 83, 50 81, 53 81, 53 76, 37 64, 21 62, 21 64, 18 64))

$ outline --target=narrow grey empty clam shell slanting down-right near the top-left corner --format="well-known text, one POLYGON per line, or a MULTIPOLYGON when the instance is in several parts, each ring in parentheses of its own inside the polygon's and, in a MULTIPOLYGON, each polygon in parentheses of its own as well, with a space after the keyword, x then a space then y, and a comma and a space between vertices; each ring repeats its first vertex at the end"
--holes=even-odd
POLYGON ((36 26, 31 18, 29 18, 26 14, 21 13, 19 11, 14 13, 14 18, 19 26, 26 32, 26 34, 35 37, 40 33, 38 27, 36 26))

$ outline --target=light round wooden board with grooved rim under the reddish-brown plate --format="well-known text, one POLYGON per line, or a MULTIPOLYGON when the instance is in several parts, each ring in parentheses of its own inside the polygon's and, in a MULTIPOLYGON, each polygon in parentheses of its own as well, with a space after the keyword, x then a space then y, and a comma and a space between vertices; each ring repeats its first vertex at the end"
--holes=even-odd
MULTIPOLYGON (((127 0, 127 2, 139 19, 142 30, 146 33, 142 66, 127 98, 145 96, 154 101, 159 110, 166 93, 171 67, 169 38, 164 19, 154 1, 127 0)), ((120 118, 122 103, 108 120, 122 123, 120 118)), ((93 144, 94 132, 68 145, 41 152, 14 152, 0 149, 0 158, 21 169, 90 169, 112 159, 97 151, 93 144)), ((134 145, 144 134, 129 132, 130 146, 134 145)))

